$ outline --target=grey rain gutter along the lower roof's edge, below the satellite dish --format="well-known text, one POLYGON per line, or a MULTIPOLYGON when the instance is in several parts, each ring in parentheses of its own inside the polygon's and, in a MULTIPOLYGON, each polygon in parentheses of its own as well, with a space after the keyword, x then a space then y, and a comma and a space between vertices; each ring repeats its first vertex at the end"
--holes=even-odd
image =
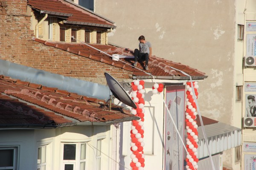
POLYGON ((0 130, 9 130, 9 129, 55 129, 60 127, 69 127, 69 126, 108 126, 114 123, 128 122, 131 120, 139 120, 140 117, 133 116, 127 117, 124 119, 116 119, 108 122, 75 122, 75 123, 65 123, 61 125, 38 125, 38 124, 1 124, 0 130))

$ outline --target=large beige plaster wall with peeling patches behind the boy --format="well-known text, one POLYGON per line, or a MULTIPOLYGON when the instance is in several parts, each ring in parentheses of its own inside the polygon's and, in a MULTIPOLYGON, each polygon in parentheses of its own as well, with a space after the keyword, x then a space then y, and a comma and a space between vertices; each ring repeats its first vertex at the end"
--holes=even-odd
MULTIPOLYGON (((95 12, 116 23, 109 42, 134 49, 144 35, 153 55, 205 72, 209 77, 198 89, 201 114, 241 127, 242 104, 236 103, 235 88, 243 84, 243 42, 237 42, 236 29, 243 23, 244 4, 244 0, 95 0, 95 12)), ((233 159, 234 150, 224 153, 224 165, 240 169, 233 159)))

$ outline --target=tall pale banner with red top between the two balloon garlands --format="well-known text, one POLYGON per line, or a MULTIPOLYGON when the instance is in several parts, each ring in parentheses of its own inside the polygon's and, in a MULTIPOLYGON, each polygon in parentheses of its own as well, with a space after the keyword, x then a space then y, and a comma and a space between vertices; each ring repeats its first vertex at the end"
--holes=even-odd
MULTIPOLYGON (((184 141, 185 86, 166 86, 166 105, 184 141)), ((166 109, 165 170, 183 170, 184 147, 166 109)))

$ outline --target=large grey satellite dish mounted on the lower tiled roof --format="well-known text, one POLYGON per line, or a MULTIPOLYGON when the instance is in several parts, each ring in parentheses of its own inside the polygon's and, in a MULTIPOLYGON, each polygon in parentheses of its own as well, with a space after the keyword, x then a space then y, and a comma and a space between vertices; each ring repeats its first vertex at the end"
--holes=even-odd
POLYGON ((131 106, 132 108, 137 108, 134 101, 131 97, 126 93, 125 89, 116 81, 110 74, 105 73, 105 77, 108 83, 108 87, 110 88, 112 94, 119 99, 125 105, 131 106))

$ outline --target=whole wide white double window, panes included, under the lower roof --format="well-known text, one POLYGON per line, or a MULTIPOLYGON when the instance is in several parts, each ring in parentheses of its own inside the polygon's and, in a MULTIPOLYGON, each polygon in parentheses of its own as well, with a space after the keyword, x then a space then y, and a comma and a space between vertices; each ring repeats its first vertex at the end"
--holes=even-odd
POLYGON ((63 144, 63 169, 85 170, 86 143, 63 144))

